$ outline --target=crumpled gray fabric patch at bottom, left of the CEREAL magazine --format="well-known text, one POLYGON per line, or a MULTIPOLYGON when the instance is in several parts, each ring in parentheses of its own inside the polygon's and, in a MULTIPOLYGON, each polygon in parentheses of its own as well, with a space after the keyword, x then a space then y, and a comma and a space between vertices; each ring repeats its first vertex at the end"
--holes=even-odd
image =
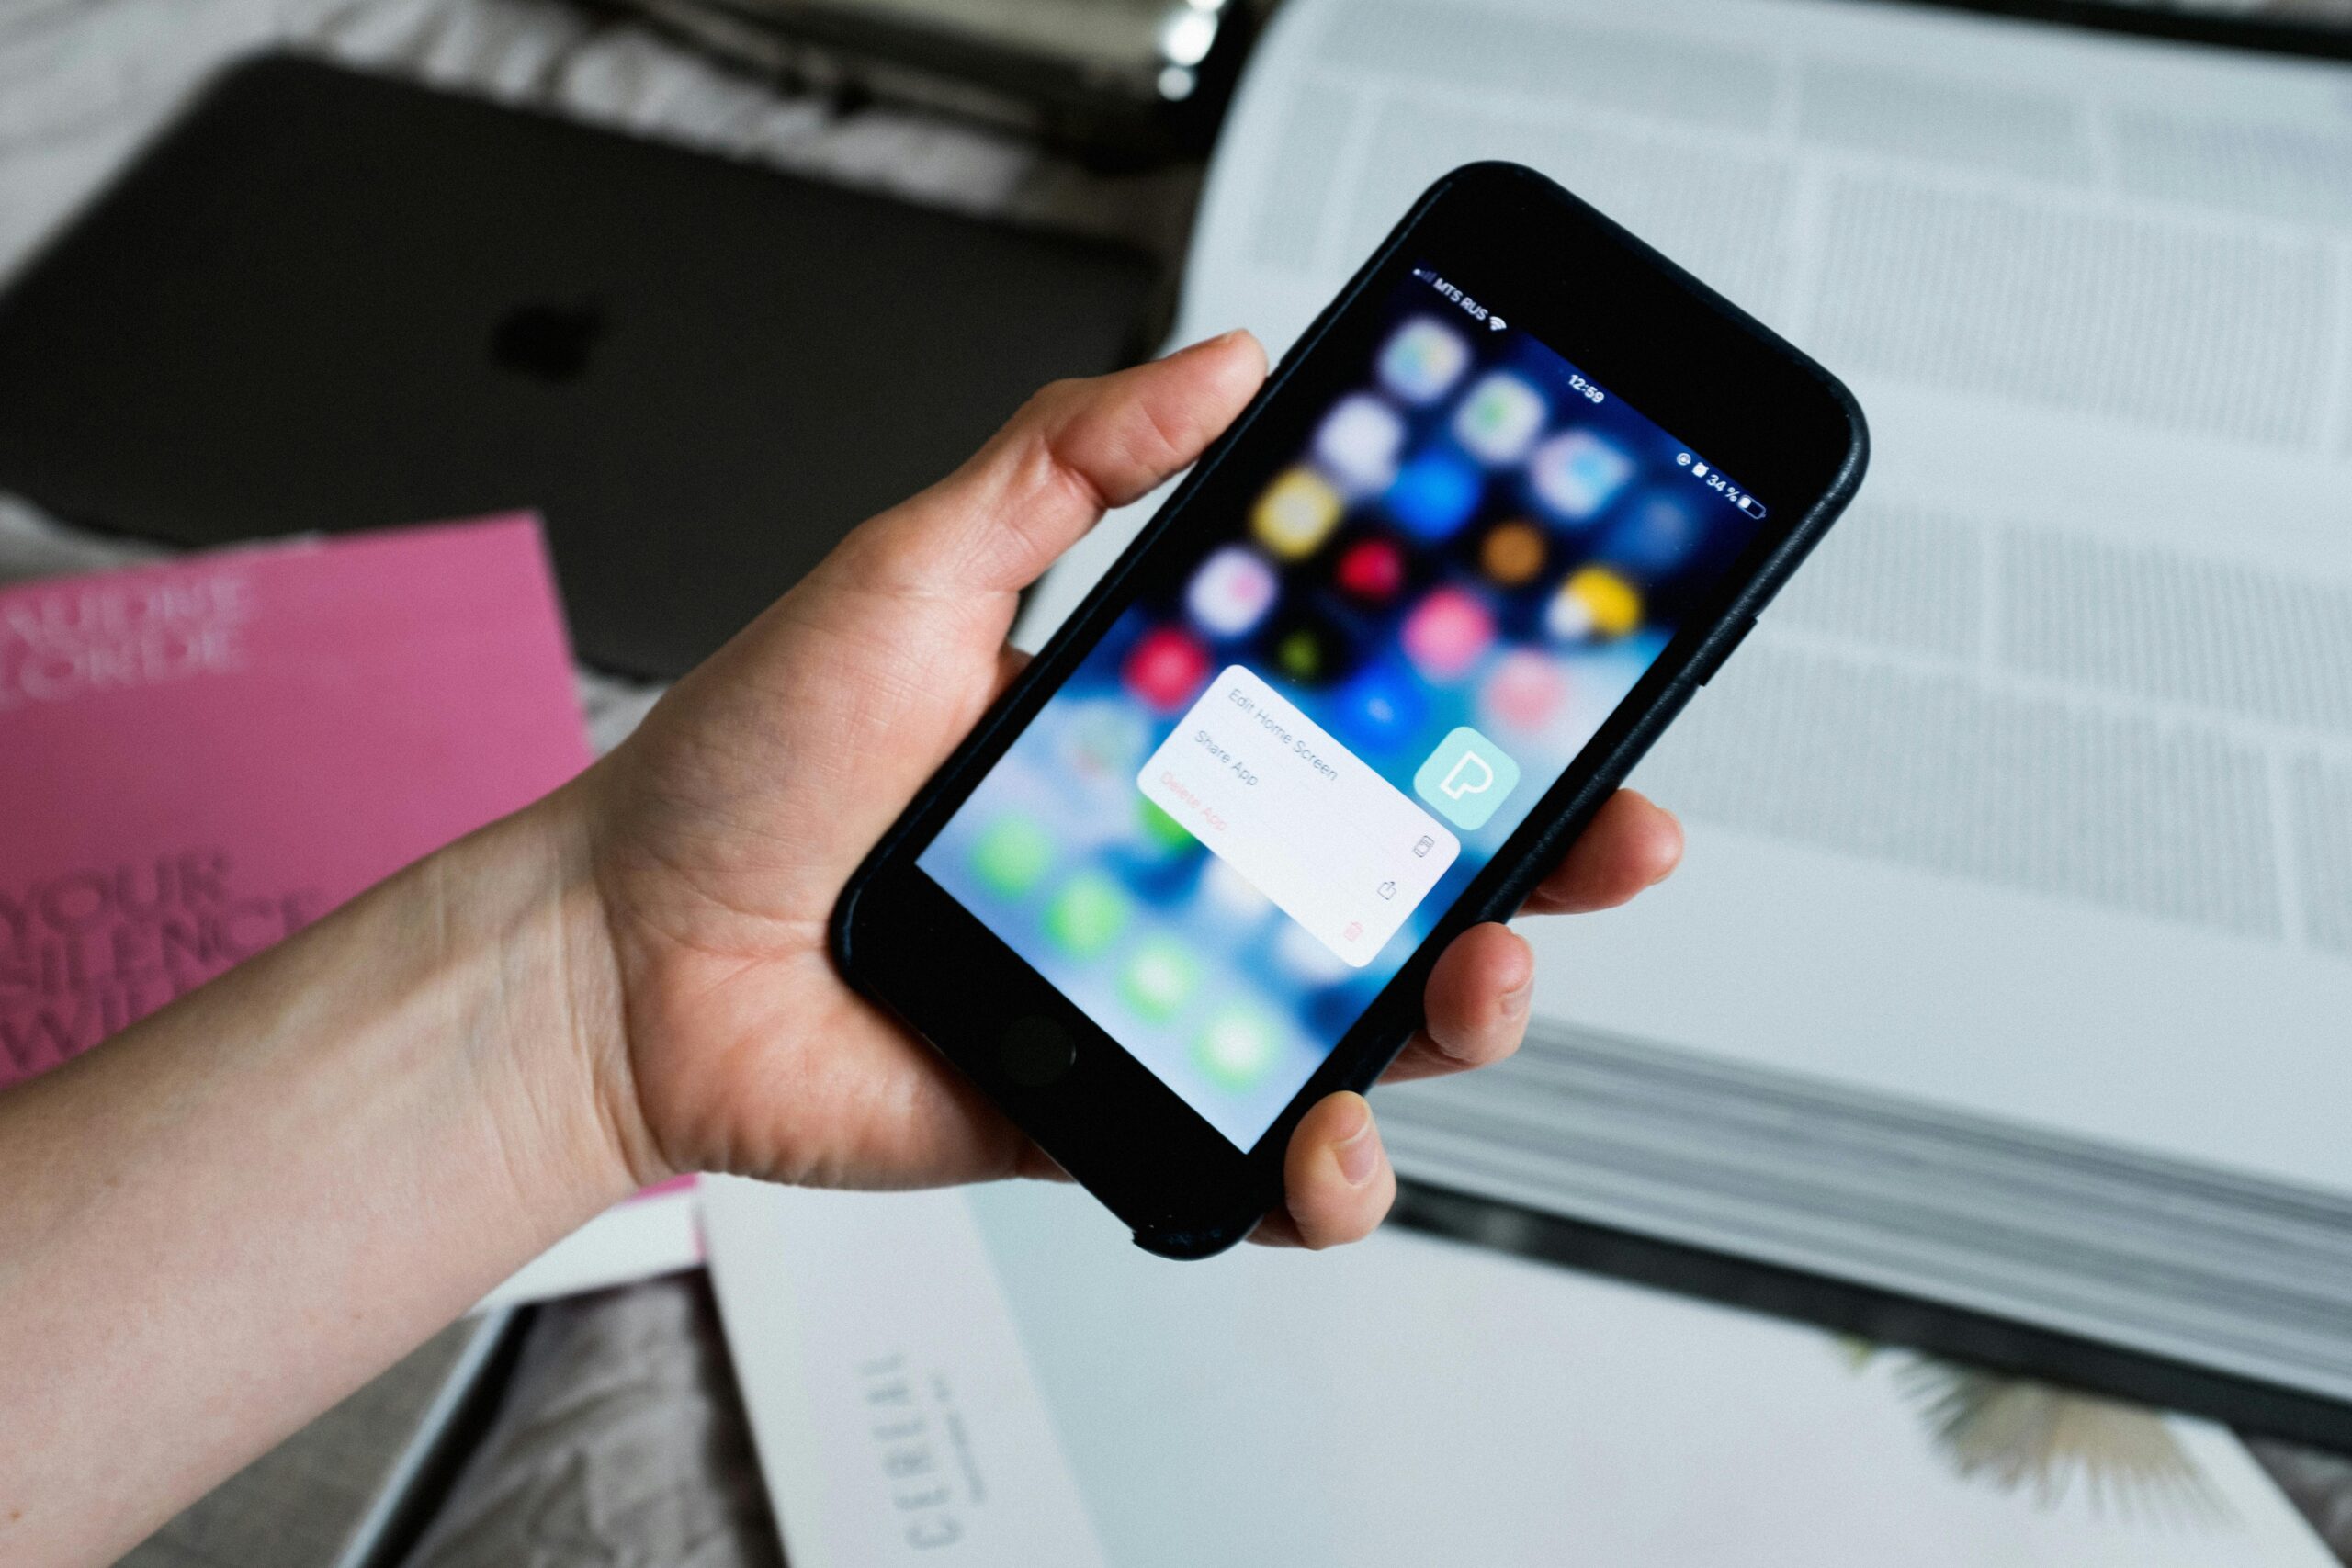
POLYGON ((539 1309, 405 1568, 781 1568, 703 1274, 539 1309))

